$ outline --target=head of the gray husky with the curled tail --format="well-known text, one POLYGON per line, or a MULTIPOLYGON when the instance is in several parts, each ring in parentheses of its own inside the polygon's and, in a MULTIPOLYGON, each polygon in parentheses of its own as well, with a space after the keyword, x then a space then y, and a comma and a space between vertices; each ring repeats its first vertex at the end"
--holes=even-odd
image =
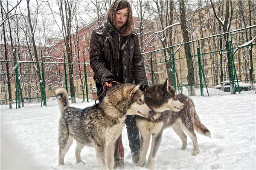
POLYGON ((126 115, 147 116, 152 110, 145 104, 140 85, 120 84, 108 90, 104 101, 110 102, 126 115))

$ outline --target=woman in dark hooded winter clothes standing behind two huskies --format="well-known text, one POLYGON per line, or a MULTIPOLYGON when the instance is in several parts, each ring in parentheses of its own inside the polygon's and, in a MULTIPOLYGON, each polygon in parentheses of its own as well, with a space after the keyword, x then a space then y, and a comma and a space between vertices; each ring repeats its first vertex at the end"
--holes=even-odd
MULTIPOLYGON (((142 85, 141 90, 148 85, 139 39, 133 27, 130 4, 126 0, 116 0, 109 9, 107 22, 92 32, 90 66, 94 72, 98 96, 102 94, 104 84, 111 85, 112 81, 135 82, 142 85)), ((101 100, 102 97, 99 98, 101 100)), ((137 163, 140 135, 135 118, 127 116, 125 124, 133 161, 137 163)), ((120 150, 123 151, 122 140, 117 140, 116 143, 115 164, 123 167, 124 154, 119 154, 120 150)))

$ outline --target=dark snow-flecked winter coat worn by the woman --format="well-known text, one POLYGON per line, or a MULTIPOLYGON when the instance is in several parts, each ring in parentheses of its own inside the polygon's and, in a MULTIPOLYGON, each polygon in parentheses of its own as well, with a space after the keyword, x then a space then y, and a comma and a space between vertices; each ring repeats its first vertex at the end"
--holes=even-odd
POLYGON ((122 36, 110 21, 92 32, 90 66, 97 88, 105 81, 148 85, 137 34, 122 36))

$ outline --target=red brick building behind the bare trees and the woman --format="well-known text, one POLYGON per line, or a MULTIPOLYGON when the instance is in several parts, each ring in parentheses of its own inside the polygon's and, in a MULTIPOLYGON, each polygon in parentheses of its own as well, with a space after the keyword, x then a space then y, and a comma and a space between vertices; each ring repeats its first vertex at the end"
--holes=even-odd
MULTIPOLYGON (((138 32, 138 21, 139 19, 134 17, 134 27, 135 31, 137 31, 138 36, 140 36, 138 32)), ((81 27, 75 32, 71 37, 71 51, 73 55, 73 82, 74 88, 77 98, 82 98, 83 86, 85 81, 84 75, 84 66, 87 72, 87 87, 88 87, 88 95, 89 99, 93 98, 93 89, 95 89, 95 82, 93 81, 93 71, 90 67, 90 59, 89 59, 89 42, 90 36, 93 29, 98 27, 98 22, 95 21, 88 26, 81 27), (84 64, 85 63, 85 64, 84 64)), ((146 38, 146 37, 143 37, 146 38)), ((1 58, 0 60, 5 60, 4 58, 4 46, 1 47, 1 58)), ((45 85, 46 85, 46 95, 47 97, 51 97, 54 95, 54 89, 59 86, 64 86, 65 75, 64 75, 64 54, 67 55, 65 50, 65 42, 63 39, 55 39, 49 38, 47 41, 47 47, 37 46, 38 48, 38 60, 44 62, 44 74, 45 74, 45 85), (43 51, 43 58, 41 58, 41 50, 43 51), (63 53, 64 52, 64 53, 63 53), (53 63, 52 63, 53 62, 53 63)), ((145 51, 151 51, 154 49, 152 46, 148 46, 145 51)), ((8 52, 11 52, 11 46, 8 45, 8 52)), ((34 54, 29 53, 27 46, 20 46, 19 50, 19 59, 18 61, 32 61, 31 55, 34 54)), ((66 63, 67 63, 67 57, 66 63)), ((9 54, 9 61, 13 61, 13 57, 9 54)), ((145 65, 148 64, 148 61, 145 60, 145 65)), ((20 74, 20 83, 23 86, 23 98, 33 98, 40 97, 40 90, 38 85, 38 77, 36 75, 36 68, 33 63, 20 63, 21 67, 19 68, 20 74), (21 72, 20 72, 21 70, 21 72)), ((67 71, 67 81, 68 81, 68 89, 70 88, 69 84, 69 69, 68 64, 66 64, 67 71)), ((13 70, 14 63, 9 64, 9 70, 13 70)), ((6 96, 8 98, 8 89, 6 83, 6 64, 4 62, 0 63, 0 81, 1 81, 1 91, 0 91, 0 99, 5 100, 6 96)), ((42 73, 42 72, 41 72, 42 73)), ((149 72, 147 72, 147 78, 150 78, 149 72)), ((12 98, 15 98, 15 72, 12 72, 12 98)), ((70 90, 69 90, 70 91, 70 90)), ((85 92, 85 90, 84 90, 85 92)))

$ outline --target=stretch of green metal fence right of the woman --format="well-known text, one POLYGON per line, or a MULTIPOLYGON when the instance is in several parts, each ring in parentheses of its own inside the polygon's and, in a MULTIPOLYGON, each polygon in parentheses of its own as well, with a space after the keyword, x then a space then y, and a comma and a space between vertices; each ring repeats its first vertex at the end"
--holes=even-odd
POLYGON ((176 92, 183 92, 186 95, 255 94, 255 37, 256 25, 145 52, 143 57, 148 82, 149 84, 163 83, 166 78, 169 78, 169 82, 176 92), (250 30, 252 40, 246 38, 250 30), (225 48, 224 35, 227 36, 228 49, 225 48), (193 61, 195 83, 192 88, 194 93, 189 92, 191 89, 187 81, 188 66, 185 45, 189 45, 193 61), (227 53, 230 54, 230 62, 228 62, 227 53), (253 78, 250 78, 250 55, 253 58, 253 78), (220 58, 222 58, 222 62, 220 58), (228 74, 229 66, 232 75, 231 81, 228 74), (221 67, 223 80, 221 79, 221 67), (170 74, 169 70, 171 70, 170 74))

